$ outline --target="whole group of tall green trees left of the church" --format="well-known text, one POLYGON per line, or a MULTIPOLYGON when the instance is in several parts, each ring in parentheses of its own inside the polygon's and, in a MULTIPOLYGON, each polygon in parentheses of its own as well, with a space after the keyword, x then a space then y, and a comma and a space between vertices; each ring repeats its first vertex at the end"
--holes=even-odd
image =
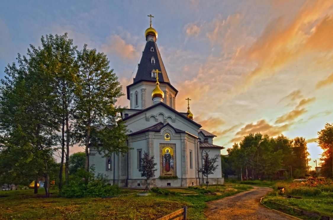
POLYGON ((60 188, 64 161, 69 181, 72 144, 86 147, 86 170, 89 146, 106 154, 127 153, 128 148, 122 108, 114 105, 122 87, 107 57, 86 45, 77 51, 66 33, 46 35, 41 42, 38 48, 30 45, 26 57, 18 55, 18 65, 8 65, 1 79, 0 181, 42 177, 49 196, 53 154, 59 146, 60 188))

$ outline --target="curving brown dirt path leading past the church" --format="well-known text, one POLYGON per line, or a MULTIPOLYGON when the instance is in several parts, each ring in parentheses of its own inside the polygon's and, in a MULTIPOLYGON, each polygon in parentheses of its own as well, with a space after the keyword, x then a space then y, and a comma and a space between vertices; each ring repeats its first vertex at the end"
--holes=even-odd
POLYGON ((271 188, 257 187, 224 199, 208 202, 205 210, 207 219, 294 219, 260 204, 271 188))

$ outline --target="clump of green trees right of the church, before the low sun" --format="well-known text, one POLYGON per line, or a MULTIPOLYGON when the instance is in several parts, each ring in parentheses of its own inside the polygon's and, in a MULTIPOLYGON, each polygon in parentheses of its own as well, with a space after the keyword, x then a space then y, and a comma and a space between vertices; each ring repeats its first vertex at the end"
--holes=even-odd
POLYGON ((260 133, 249 134, 227 152, 233 172, 241 179, 243 175, 246 179, 271 179, 279 169, 289 171, 290 166, 296 170, 297 177, 307 172, 309 153, 303 137, 289 140, 283 135, 270 138, 260 133))

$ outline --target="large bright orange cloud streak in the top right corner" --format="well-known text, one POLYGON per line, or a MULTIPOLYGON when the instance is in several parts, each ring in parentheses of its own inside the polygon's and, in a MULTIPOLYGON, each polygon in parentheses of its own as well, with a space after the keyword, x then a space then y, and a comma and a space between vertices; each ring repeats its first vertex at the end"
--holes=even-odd
POLYGON ((256 42, 242 53, 242 59, 255 61, 257 66, 244 73, 245 80, 234 91, 246 88, 258 78, 275 74, 300 56, 313 54, 314 50, 331 52, 332 28, 325 28, 332 26, 332 18, 325 15, 332 5, 332 1, 309 0, 292 22, 280 17, 267 25, 256 42))

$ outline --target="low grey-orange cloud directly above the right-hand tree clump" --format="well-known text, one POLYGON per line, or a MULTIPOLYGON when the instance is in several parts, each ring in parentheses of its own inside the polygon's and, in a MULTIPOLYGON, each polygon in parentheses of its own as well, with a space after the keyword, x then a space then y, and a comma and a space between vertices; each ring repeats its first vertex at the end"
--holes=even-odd
POLYGON ((243 139, 243 136, 248 135, 249 133, 267 134, 269 136, 276 136, 281 134, 283 131, 286 131, 290 127, 290 124, 284 124, 281 126, 274 126, 267 123, 264 119, 257 121, 256 124, 250 123, 241 128, 237 133, 237 137, 231 139, 229 143, 239 142, 243 139))

